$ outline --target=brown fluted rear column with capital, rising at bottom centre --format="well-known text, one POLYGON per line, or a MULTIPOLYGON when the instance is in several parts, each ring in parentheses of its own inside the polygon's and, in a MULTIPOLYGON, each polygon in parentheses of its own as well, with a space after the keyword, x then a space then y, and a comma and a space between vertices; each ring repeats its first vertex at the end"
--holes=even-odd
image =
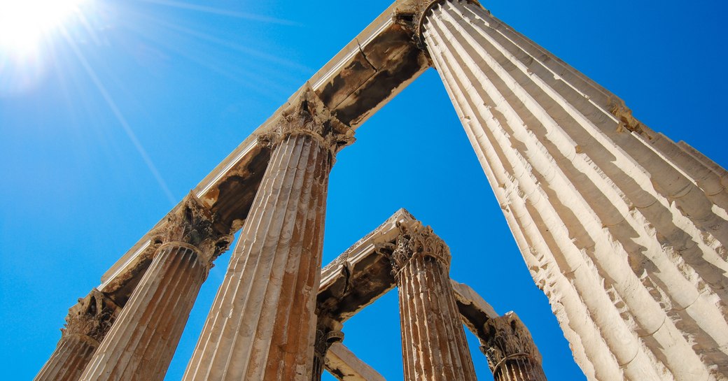
POLYGON ((389 256, 399 289, 405 381, 475 381, 450 286, 448 246, 419 222, 399 227, 389 256))

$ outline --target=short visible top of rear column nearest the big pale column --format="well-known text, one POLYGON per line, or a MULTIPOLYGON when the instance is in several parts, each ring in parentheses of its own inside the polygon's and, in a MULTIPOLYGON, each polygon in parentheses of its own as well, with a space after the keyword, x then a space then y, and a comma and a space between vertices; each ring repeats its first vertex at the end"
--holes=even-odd
POLYGON ((483 331, 487 337, 480 350, 488 356, 494 381, 546 381, 541 354, 518 315, 492 318, 483 331))

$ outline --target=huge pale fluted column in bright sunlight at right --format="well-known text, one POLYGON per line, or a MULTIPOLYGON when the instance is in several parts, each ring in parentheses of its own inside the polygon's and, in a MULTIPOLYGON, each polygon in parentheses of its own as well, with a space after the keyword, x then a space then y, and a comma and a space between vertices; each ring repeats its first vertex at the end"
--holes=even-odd
POLYGON ((728 377, 724 169, 473 1, 419 33, 587 377, 728 377))

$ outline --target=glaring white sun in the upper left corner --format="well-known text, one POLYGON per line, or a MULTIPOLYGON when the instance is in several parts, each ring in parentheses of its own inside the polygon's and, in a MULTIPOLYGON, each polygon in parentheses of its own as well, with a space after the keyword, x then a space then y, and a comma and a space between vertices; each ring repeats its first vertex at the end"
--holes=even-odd
POLYGON ((87 0, 0 0, 0 56, 33 53, 87 0))

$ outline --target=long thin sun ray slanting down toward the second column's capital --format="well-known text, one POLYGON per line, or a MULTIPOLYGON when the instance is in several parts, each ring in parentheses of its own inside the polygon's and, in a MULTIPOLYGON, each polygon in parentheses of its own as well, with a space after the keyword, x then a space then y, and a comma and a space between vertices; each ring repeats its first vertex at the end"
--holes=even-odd
POLYGON ((151 171, 151 174, 154 175, 154 178, 157 180, 157 183, 159 183, 159 187, 162 188, 162 191, 165 193, 165 196, 167 196, 167 199, 170 201, 170 204, 172 204, 174 206, 175 204, 177 204, 177 201, 178 201, 177 198, 175 198, 175 196, 172 194, 172 192, 170 191, 170 188, 167 187, 167 183, 165 182, 165 179, 162 178, 162 175, 157 170, 157 167, 154 165, 154 162, 151 161, 149 154, 146 153, 146 150, 144 149, 143 145, 137 138, 136 134, 132 130, 129 123, 127 122, 126 118, 124 118, 124 115, 119 110, 119 107, 116 106, 114 99, 111 98, 111 95, 108 94, 108 91, 106 91, 106 87, 104 87, 103 84, 101 83, 101 81, 98 79, 98 76, 96 75, 95 71, 93 70, 91 65, 89 65, 88 61, 86 60, 84 55, 81 53, 79 48, 76 46, 73 39, 71 39, 68 36, 68 33, 66 33, 65 30, 62 30, 61 33, 62 33, 63 37, 66 39, 66 41, 68 42, 68 45, 74 51, 74 55, 76 55, 76 58, 79 60, 81 65, 84 67, 84 70, 86 71, 86 73, 88 74, 90 79, 95 84, 95 86, 98 89, 98 91, 100 92, 101 96, 106 101, 106 104, 108 105, 109 108, 111 108, 111 112, 114 113, 116 120, 119 121, 119 124, 121 124, 122 127, 124 128, 124 132, 126 132, 127 136, 134 144, 134 147, 138 151, 139 155, 143 159, 146 166, 149 168, 149 171, 151 171))

